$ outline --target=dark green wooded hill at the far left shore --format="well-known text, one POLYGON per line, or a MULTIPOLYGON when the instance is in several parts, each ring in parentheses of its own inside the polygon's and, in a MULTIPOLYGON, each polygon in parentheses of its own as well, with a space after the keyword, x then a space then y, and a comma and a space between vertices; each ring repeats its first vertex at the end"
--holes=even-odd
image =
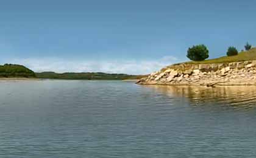
POLYGON ((27 67, 16 64, 0 65, 0 77, 2 78, 35 78, 35 73, 27 67))

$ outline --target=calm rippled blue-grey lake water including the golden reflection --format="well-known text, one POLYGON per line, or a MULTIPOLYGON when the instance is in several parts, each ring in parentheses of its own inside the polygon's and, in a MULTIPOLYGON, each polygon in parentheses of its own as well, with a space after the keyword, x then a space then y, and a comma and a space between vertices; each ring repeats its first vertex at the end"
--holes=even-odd
POLYGON ((0 157, 255 156, 254 86, 0 82, 0 157))

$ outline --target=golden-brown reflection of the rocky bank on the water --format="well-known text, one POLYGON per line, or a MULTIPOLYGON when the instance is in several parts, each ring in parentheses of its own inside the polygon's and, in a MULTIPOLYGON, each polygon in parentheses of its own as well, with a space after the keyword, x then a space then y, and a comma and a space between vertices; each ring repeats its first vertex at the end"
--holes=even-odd
POLYGON ((186 97, 192 105, 219 103, 230 106, 256 106, 256 86, 149 86, 171 97, 186 97))

